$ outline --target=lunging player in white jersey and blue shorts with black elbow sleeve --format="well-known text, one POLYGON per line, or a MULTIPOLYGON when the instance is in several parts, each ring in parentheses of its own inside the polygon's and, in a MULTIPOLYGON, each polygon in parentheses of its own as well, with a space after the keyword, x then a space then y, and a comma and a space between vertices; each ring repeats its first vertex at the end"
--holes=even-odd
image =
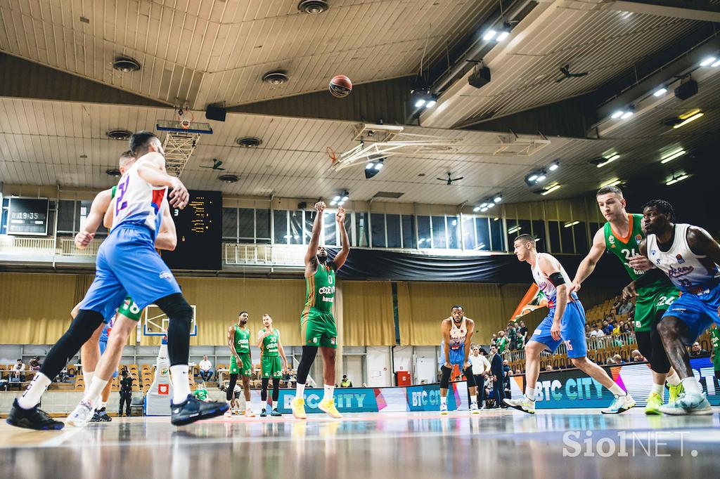
POLYGON ((603 414, 619 414, 635 406, 632 396, 618 386, 608 373, 588 360, 585 342, 585 309, 582 309, 577 294, 567 297, 567 288, 572 285, 560 262, 552 255, 539 253, 535 239, 521 234, 515 239, 515 255, 518 260, 530 265, 535 283, 548 301, 548 315, 539 324, 525 346, 525 394, 519 399, 504 399, 508 406, 529 414, 535 414, 535 385, 540 374, 540 353, 554 352, 561 342, 567 346, 567 357, 572 365, 582 370, 610 390, 615 400, 603 414))

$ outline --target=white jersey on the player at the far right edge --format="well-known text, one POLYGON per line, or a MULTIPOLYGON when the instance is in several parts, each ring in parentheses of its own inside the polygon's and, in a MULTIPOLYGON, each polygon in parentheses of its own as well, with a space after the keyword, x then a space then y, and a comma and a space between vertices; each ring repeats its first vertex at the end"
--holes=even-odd
MULTIPOLYGON (((680 291, 693 291, 720 278, 718 265, 690 250, 688 228, 690 224, 675 224, 675 237, 667 251, 660 250, 654 234, 647 235, 647 257, 680 291)), ((704 229, 695 228, 710 236, 704 229)))

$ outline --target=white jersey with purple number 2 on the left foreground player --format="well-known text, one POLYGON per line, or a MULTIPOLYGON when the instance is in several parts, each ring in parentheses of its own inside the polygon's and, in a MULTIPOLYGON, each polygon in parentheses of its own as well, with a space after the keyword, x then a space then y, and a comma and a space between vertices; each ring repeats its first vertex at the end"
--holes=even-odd
POLYGON ((120 224, 143 224, 153 235, 160 229, 163 199, 167 186, 152 186, 138 175, 138 167, 147 160, 140 157, 117 183, 117 192, 112 199, 112 229, 120 224))

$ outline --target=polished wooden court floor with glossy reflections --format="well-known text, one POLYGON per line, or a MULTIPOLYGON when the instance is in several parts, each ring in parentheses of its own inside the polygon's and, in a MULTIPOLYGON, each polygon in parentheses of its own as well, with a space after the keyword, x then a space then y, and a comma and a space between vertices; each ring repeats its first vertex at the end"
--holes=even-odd
POLYGON ((176 428, 123 418, 86 429, 0 426, 1 478, 712 478, 718 414, 593 410, 219 418, 176 428), (603 457, 606 456, 606 457, 603 457))

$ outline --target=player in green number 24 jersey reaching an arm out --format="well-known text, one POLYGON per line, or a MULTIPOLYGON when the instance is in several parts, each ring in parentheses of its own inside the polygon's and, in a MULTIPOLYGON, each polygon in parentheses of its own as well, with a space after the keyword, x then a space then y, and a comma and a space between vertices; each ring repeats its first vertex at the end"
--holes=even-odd
MULTIPOLYGON (((593 246, 582 260, 575 273, 575 280, 569 288, 570 293, 580 290, 580 284, 595 270, 595 265, 608 251, 616 255, 623 263, 631 280, 636 280, 652 268, 647 258, 639 259, 639 244, 645 237, 642 228, 642 214, 629 214, 626 201, 617 186, 600 188, 596 196, 603 216, 608 220, 605 226, 595 233, 593 246), (636 265, 634 268, 631 262, 636 265)), ((665 380, 670 387, 670 402, 682 393, 680 377, 670 368, 665 347, 662 346, 657 323, 662 319, 667 306, 678 298, 679 293, 670 280, 663 275, 653 283, 639 288, 635 303, 635 338, 640 353, 647 358, 652 369, 652 391, 647 397, 645 414, 661 414, 662 395, 665 391, 665 380)))

